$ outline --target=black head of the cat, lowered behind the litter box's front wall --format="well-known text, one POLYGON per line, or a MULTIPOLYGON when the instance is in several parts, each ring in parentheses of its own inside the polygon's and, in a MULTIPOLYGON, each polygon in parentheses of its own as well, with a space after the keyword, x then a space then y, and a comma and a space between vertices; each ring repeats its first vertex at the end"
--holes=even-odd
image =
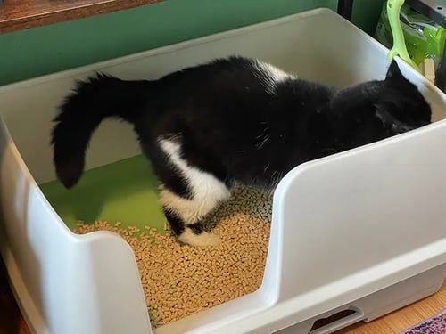
POLYGON ((343 128, 343 136, 338 139, 343 150, 431 122, 431 107, 417 86, 402 75, 396 61, 392 61, 384 80, 351 87, 349 91, 342 104, 335 103, 342 115, 338 125, 343 128))

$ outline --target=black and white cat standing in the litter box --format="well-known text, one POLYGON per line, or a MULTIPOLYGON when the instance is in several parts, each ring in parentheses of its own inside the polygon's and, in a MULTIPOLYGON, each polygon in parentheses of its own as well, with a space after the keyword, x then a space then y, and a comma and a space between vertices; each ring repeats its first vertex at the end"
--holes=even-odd
POLYGON ((392 61, 382 81, 343 89, 311 83, 259 60, 230 57, 158 80, 99 74, 79 82, 53 130, 67 187, 81 177, 103 118, 133 124, 161 180, 161 205, 178 240, 219 243, 200 221, 232 185, 274 188, 293 167, 430 123, 431 109, 392 61))

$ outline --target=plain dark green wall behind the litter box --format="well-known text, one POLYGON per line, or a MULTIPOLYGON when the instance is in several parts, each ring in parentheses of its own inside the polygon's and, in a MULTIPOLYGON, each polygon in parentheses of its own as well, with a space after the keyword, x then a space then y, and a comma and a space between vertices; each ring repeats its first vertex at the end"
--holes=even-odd
MULTIPOLYGON (((356 0, 353 22, 373 33, 384 0, 356 0)), ((0 35, 0 85, 169 45, 335 0, 167 0, 0 35)))

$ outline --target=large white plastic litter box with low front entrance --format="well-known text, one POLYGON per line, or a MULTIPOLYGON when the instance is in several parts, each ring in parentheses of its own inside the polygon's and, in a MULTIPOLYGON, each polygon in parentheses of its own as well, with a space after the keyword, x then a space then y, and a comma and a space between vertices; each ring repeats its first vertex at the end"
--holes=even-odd
MULTIPOLYGON (((160 77, 238 53, 348 86, 384 78, 387 52, 318 9, 1 87, 1 248, 31 330, 322 334, 433 294, 446 276, 446 97, 402 61, 435 122, 295 167, 274 194, 260 289, 156 330, 128 244, 113 232, 70 232, 37 185, 55 179, 49 133, 56 106, 75 79, 95 70, 160 77), (311 330, 334 314, 347 315, 311 330)), ((106 122, 87 168, 138 154, 130 126, 106 122)))

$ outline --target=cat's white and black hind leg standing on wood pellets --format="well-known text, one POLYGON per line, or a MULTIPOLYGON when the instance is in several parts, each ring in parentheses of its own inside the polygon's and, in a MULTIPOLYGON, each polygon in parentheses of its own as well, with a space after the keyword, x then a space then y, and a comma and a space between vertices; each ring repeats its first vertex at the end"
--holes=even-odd
POLYGON ((161 139, 161 151, 168 159, 170 173, 161 175, 161 206, 178 240, 192 246, 219 244, 219 236, 205 232, 200 223, 222 200, 227 200, 227 184, 210 172, 192 166, 182 157, 181 144, 175 139, 161 139), (164 180, 163 180, 164 179, 164 180), (182 187, 178 184, 182 183, 182 187))

